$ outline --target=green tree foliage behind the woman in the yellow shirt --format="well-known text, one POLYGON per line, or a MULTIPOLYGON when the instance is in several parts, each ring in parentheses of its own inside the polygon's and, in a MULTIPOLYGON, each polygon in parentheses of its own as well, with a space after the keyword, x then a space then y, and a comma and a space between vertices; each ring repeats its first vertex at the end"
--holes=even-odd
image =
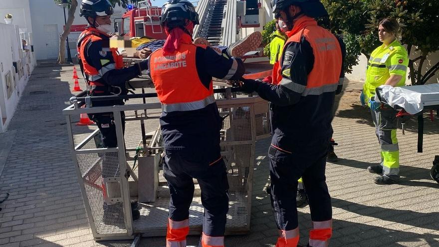
POLYGON ((328 27, 343 36, 348 50, 348 69, 358 64, 357 56, 367 57, 381 43, 378 24, 394 17, 403 25, 402 43, 409 55, 420 55, 409 61, 413 85, 425 84, 439 70, 439 62, 426 64, 429 55, 439 50, 438 0, 321 0, 330 19, 328 27), (423 73, 427 68, 427 72, 423 73))

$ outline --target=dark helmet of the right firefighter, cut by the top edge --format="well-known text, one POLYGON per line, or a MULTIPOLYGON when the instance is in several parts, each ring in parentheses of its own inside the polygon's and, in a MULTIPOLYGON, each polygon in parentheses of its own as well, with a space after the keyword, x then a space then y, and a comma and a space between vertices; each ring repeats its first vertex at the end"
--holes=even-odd
POLYGON ((298 5, 302 12, 310 17, 322 17, 328 15, 325 6, 320 0, 271 0, 271 9, 273 13, 287 8, 290 5, 298 5))

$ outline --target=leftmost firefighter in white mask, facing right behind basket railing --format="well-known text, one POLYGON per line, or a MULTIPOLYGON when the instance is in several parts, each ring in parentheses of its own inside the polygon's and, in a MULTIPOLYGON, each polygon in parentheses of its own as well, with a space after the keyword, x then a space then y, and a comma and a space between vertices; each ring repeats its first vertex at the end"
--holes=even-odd
MULTIPOLYGON (((80 16, 84 16, 89 26, 78 38, 78 55, 81 71, 87 81, 89 96, 124 95, 127 93, 126 81, 141 74, 148 66, 147 61, 124 68, 122 56, 117 50, 110 49, 111 19, 113 6, 108 0, 83 0, 80 7, 80 16)), ((93 101, 93 107, 123 105, 121 99, 93 101)), ((100 132, 103 147, 117 147, 116 127, 112 112, 89 114, 96 122, 100 132)), ((121 112, 122 128, 125 129, 125 114, 121 112)), ((118 177, 120 171, 110 160, 102 161, 102 177, 118 177)), ((114 191, 111 183, 104 186, 104 191, 114 191)), ((123 223, 122 203, 111 203, 108 193, 104 192, 103 222, 110 225, 123 223)), ((139 218, 140 213, 136 204, 132 205, 133 220, 139 218)))

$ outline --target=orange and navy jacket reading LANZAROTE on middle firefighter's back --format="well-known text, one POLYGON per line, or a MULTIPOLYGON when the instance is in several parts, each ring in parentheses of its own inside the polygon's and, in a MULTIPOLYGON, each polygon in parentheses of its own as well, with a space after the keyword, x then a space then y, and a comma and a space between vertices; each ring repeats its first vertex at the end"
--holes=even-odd
POLYGON ((219 157, 222 120, 212 77, 241 78, 245 72, 242 61, 218 54, 211 47, 194 45, 185 33, 175 52, 154 51, 148 67, 162 103, 160 125, 165 149, 184 151, 191 159, 214 161, 219 157))

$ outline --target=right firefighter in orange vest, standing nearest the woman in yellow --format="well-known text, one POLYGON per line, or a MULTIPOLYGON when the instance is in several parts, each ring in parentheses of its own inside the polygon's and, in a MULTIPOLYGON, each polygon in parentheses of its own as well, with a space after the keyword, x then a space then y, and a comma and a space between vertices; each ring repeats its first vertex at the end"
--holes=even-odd
POLYGON ((327 247, 332 207, 325 166, 342 49, 337 38, 314 19, 327 15, 319 0, 272 0, 271 6, 288 36, 279 64, 273 67, 273 84, 241 79, 241 88, 271 102, 274 133, 268 157, 271 202, 280 230, 276 247, 298 244, 295 199, 300 177, 313 226, 308 246, 327 247))

